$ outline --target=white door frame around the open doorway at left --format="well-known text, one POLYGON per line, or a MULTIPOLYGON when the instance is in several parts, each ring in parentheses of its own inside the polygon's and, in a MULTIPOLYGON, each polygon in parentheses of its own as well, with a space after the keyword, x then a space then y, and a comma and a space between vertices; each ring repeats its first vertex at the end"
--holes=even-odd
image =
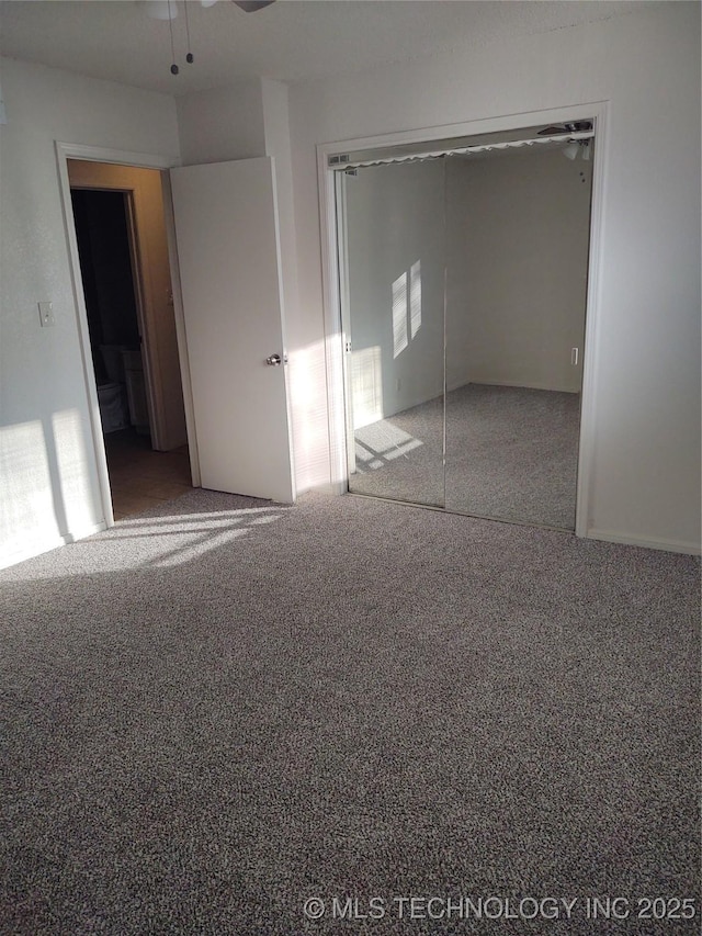
POLYGON ((80 343, 81 363, 86 394, 88 397, 88 409, 90 414, 90 432, 93 443, 94 466, 98 475, 100 489, 100 503, 103 510, 105 527, 114 526, 114 514, 112 510, 112 495, 110 489, 110 475, 107 472, 107 456, 105 452, 102 421, 100 418, 100 406, 98 403, 98 386, 92 364, 92 350, 90 332, 88 329, 88 312, 86 308, 86 295, 83 291, 80 272, 80 258, 78 255, 78 241, 76 237, 76 219, 71 202, 71 184, 68 174, 68 160, 81 159, 88 162, 113 162, 121 166, 129 166, 138 169, 156 169, 161 172, 161 184, 163 189, 163 219, 168 239, 168 255, 171 271, 171 289, 173 291, 173 315, 176 318, 176 335, 178 340, 178 357, 180 360, 181 382, 183 386, 183 403, 185 407, 185 430, 188 435, 188 447, 190 452, 190 469, 193 487, 200 487, 200 462, 197 458, 197 440, 195 436, 195 422, 193 415, 192 386, 190 382, 190 368, 188 363, 188 345, 185 341, 185 320, 180 291, 180 275, 178 269, 178 255, 176 251, 176 235, 173 228, 172 205, 170 201, 170 180, 168 170, 178 166, 179 160, 154 154, 131 153, 121 149, 107 149, 99 146, 87 146, 84 144, 63 143, 56 140, 56 161, 58 167, 58 185, 61 206, 64 211, 64 227, 68 244, 68 260, 71 275, 73 300, 76 303, 78 337, 80 343))

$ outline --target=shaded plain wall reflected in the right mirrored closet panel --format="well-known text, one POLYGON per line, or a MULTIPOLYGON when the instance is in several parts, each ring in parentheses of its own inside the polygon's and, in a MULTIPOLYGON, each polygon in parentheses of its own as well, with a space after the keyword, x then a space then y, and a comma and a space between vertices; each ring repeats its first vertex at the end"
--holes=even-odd
POLYGON ((513 149, 446 162, 446 385, 577 393, 592 160, 513 149))

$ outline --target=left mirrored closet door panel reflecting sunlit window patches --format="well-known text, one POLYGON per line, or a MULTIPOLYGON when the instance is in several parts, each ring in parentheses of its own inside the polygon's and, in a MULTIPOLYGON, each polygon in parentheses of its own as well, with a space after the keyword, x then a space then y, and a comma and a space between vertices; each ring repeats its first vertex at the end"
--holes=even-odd
POLYGON ((442 506, 443 160, 338 177, 349 489, 442 506))

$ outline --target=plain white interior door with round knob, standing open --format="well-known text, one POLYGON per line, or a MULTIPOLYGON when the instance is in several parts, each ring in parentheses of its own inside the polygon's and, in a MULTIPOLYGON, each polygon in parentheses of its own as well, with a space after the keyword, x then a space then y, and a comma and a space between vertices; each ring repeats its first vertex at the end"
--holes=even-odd
POLYGON ((202 486, 292 503, 272 159, 172 169, 171 184, 202 486))

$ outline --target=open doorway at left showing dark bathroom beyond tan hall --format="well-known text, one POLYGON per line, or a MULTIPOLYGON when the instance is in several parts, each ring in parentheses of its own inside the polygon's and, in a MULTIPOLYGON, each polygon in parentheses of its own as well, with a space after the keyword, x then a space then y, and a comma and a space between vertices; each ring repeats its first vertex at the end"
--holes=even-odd
POLYGON ((68 160, 115 520, 192 487, 160 173, 68 160), (148 174, 145 174, 148 173, 148 174))

